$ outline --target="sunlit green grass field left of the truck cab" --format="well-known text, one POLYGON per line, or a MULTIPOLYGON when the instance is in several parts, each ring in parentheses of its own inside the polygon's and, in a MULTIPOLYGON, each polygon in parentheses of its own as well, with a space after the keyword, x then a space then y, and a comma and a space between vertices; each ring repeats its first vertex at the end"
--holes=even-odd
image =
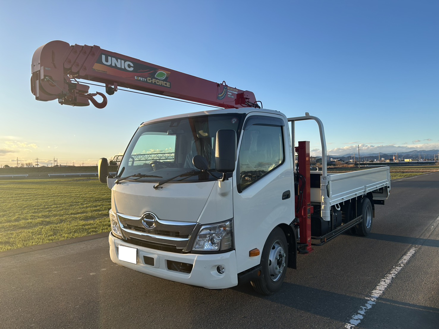
POLYGON ((0 251, 108 232, 110 196, 97 179, 0 180, 0 251))

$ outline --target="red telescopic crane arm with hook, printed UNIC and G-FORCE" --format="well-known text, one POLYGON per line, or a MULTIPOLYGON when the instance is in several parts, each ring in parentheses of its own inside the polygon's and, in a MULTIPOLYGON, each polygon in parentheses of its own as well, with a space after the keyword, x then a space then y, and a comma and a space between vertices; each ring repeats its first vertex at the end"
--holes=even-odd
POLYGON ((60 104, 98 108, 107 105, 103 93, 88 93, 89 86, 76 79, 101 82, 109 95, 118 87, 155 93, 224 108, 259 107, 248 90, 231 88, 192 75, 140 61, 133 57, 64 41, 51 41, 32 57, 31 91, 36 100, 55 100, 60 104), (94 99, 100 95, 102 102, 94 99))

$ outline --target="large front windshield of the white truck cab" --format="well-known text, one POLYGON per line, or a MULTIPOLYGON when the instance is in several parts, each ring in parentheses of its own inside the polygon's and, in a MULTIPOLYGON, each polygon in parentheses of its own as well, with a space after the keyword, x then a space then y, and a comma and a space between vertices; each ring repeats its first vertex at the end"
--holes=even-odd
MULTIPOLYGON (((216 132, 219 129, 233 129, 239 135, 241 122, 242 114, 212 114, 140 126, 122 157, 118 176, 156 176, 133 179, 147 182, 169 179, 196 169, 192 164, 195 155, 205 157, 209 169, 215 172, 216 132)), ((214 178, 210 175, 194 175, 177 178, 172 182, 194 182, 200 179, 214 178)))

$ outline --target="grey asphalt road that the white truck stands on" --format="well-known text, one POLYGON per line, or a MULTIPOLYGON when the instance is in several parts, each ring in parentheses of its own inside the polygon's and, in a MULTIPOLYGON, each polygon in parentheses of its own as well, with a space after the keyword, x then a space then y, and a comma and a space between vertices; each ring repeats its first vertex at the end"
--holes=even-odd
POLYGON ((439 173, 394 181, 369 236, 342 235, 298 255, 298 269, 269 297, 115 265, 106 237, 3 252, 0 328, 436 329, 438 218, 439 173))

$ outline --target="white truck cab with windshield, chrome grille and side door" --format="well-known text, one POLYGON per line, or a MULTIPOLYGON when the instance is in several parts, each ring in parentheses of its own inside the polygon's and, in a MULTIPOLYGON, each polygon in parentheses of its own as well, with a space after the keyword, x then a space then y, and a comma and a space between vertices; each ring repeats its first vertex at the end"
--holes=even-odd
POLYGON ((281 283, 288 244, 295 259, 293 170, 288 121, 277 111, 215 110, 144 122, 116 178, 107 179, 112 261, 181 283, 227 288, 262 275, 261 252, 278 228, 283 239, 268 275, 281 283), (237 137, 229 146, 234 170, 225 180, 216 171, 223 129, 237 137), (206 160, 206 170, 195 168, 195 156, 206 160))

